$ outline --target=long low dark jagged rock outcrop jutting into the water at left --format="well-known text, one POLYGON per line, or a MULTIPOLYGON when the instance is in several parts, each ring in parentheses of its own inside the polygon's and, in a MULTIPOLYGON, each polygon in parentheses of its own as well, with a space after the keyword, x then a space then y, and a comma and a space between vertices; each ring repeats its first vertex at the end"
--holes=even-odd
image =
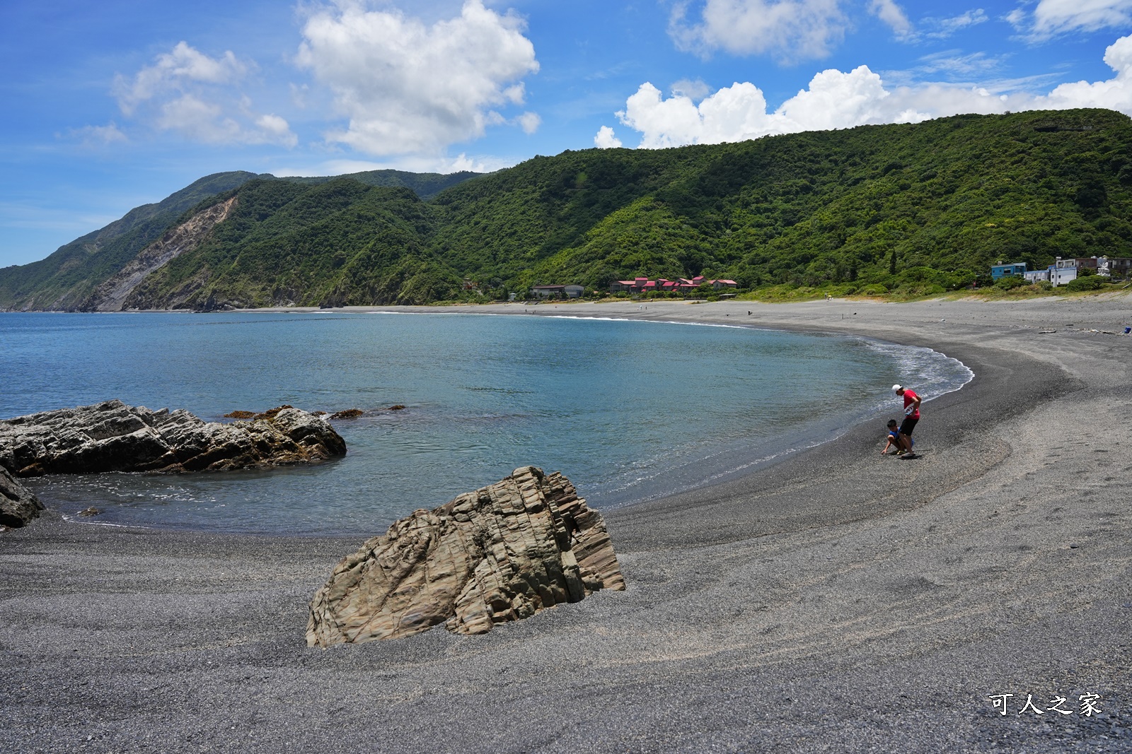
POLYGON ((221 424, 183 409, 151 411, 108 400, 0 421, 0 466, 16 476, 220 471, 345 452, 345 441, 326 421, 291 407, 271 418, 221 424))

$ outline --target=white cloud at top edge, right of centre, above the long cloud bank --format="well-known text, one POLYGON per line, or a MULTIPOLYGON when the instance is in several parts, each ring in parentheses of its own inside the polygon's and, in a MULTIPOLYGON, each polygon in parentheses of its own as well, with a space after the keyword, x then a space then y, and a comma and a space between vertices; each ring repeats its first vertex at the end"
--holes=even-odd
MULTIPOLYGON (((882 16, 892 15, 892 0, 873 5, 882 16)), ((705 0, 702 6, 680 0, 672 8, 668 31, 681 50, 765 53, 783 61, 824 58, 844 36, 847 23, 840 0, 705 0), (698 12, 689 12, 693 5, 698 12)))

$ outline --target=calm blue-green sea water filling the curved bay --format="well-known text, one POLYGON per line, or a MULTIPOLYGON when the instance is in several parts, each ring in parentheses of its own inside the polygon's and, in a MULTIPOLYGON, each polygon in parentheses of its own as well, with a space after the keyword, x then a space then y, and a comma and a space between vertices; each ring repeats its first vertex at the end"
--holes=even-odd
MULTIPOLYGON (((101 523, 264 534, 384 531, 515 467, 608 508, 749 471, 897 401, 970 379, 935 352, 842 336, 549 317, 0 314, 0 417, 120 398, 206 421, 361 408, 314 467, 32 484, 101 523), (393 405, 404 410, 386 410, 393 405)), ((878 435, 883 432, 877 427, 878 435)))

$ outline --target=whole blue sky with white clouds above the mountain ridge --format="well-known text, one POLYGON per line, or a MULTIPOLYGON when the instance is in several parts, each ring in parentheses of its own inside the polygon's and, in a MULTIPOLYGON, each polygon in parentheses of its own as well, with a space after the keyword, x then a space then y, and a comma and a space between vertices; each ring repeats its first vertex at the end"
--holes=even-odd
POLYGON ((0 55, 0 267, 220 171, 1132 114, 1132 0, 7 0, 0 55))

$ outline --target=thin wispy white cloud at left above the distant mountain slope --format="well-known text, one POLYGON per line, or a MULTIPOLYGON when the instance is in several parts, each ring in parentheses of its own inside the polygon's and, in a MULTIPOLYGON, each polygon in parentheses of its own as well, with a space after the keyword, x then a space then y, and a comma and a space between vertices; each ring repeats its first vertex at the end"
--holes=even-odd
POLYGON ((232 51, 209 58, 186 42, 134 77, 118 76, 113 94, 127 118, 205 144, 282 144, 298 138, 288 122, 257 113, 239 89, 251 64, 232 51))

